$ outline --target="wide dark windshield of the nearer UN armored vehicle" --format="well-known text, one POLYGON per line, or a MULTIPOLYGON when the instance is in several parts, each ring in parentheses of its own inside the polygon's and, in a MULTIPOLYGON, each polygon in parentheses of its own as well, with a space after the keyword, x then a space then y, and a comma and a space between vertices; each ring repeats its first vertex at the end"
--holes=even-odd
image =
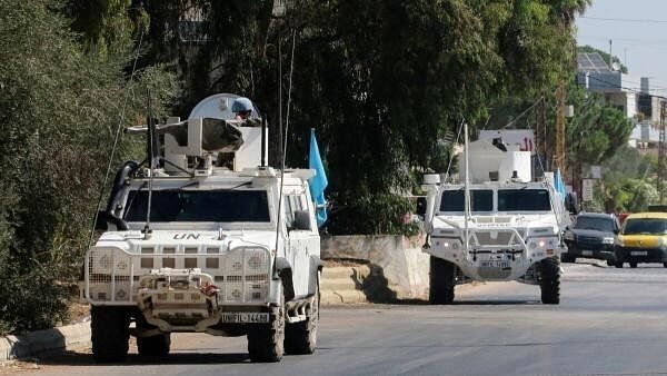
MULTIPOLYGON (((146 221, 148 191, 128 197, 127 221, 146 221)), ((155 190, 150 220, 153 222, 268 222, 265 190, 155 190)))

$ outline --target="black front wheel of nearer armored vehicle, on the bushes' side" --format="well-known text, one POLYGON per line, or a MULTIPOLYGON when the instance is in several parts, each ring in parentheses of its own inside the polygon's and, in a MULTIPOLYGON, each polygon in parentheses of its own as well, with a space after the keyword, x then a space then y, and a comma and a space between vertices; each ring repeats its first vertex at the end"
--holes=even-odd
POLYGON ((122 307, 90 308, 92 356, 99 363, 123 362, 128 357, 130 316, 122 307))

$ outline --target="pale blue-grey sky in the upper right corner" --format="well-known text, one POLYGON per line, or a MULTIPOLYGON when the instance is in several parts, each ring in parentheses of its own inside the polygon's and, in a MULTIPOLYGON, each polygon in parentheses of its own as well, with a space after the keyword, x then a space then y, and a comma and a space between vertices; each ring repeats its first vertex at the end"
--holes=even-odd
POLYGON ((593 0, 577 19, 577 43, 609 52, 609 39, 634 87, 648 77, 667 95, 667 0, 593 0))

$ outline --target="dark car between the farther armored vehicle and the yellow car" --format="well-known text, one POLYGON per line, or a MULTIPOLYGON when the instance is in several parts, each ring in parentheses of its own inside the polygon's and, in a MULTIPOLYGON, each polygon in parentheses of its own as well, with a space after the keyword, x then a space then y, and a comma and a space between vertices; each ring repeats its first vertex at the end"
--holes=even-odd
POLYGON ((615 265, 614 244, 620 225, 616 216, 601 212, 581 212, 575 225, 565 232, 567 253, 565 263, 575 263, 577 257, 597 258, 615 265))

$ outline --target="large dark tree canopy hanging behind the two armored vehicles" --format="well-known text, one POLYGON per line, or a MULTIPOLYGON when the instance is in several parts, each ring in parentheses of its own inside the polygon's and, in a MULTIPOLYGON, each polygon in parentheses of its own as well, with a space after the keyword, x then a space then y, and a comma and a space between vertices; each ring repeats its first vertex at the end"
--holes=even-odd
POLYGON ((273 164, 279 113, 287 123, 291 97, 288 165, 306 166, 315 128, 335 205, 329 229, 347 232, 397 221, 396 212, 351 218, 346 210, 381 206, 379 197, 416 187, 420 171, 444 170, 444 140, 461 121, 484 126, 496 102, 535 100, 568 78, 571 23, 588 3, 293 0, 275 19, 268 0, 143 1, 151 47, 142 62, 177 65, 183 112, 215 92, 251 97, 270 118, 273 164))

